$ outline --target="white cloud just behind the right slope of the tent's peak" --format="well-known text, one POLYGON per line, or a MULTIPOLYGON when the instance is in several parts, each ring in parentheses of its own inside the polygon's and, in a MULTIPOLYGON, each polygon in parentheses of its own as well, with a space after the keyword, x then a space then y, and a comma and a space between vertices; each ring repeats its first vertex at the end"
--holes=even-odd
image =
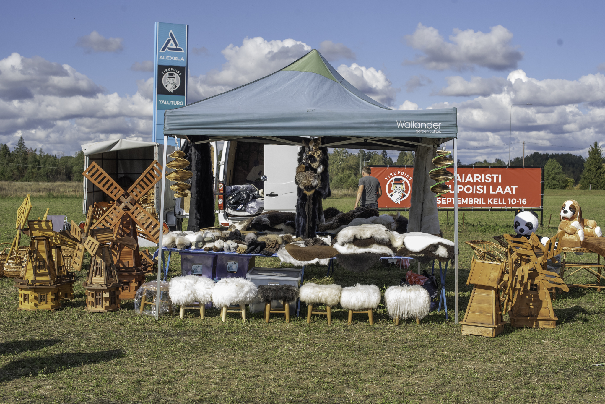
POLYGON ((397 88, 393 88, 393 83, 382 70, 356 63, 350 66, 342 64, 336 70, 346 81, 381 104, 392 105, 395 101, 397 88))

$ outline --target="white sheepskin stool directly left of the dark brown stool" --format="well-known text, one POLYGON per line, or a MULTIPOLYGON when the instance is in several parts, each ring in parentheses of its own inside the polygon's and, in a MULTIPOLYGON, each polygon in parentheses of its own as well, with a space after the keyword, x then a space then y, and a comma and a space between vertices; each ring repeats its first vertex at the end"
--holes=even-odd
POLYGON ((246 322, 246 305, 257 297, 257 285, 245 278, 223 278, 214 285, 212 303, 220 307, 223 321, 227 313, 241 313, 241 319, 246 322), (229 306, 238 305, 239 310, 229 310, 229 306))

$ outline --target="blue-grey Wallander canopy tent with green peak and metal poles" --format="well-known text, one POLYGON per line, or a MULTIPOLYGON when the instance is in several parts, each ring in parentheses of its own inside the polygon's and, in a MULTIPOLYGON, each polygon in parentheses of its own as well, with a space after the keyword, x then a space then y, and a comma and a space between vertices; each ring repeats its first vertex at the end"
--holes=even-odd
POLYGON ((164 115, 165 144, 168 136, 189 141, 190 136, 206 136, 194 143, 245 138, 246 142, 290 145, 300 145, 301 137, 323 136, 325 147, 414 150, 436 147, 422 142, 425 137, 441 142, 453 139, 456 322, 457 134, 456 108, 391 110, 347 82, 315 49, 269 76, 185 107, 166 110, 164 115))

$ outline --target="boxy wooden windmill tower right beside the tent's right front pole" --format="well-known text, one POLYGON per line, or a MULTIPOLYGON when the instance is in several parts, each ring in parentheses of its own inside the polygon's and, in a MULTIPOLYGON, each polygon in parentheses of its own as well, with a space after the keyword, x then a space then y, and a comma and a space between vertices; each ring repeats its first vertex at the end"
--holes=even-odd
POLYGON ((473 248, 471 272, 466 285, 474 284, 471 299, 466 306, 462 324, 462 335, 495 337, 502 333, 506 322, 500 308, 500 291, 498 285, 502 279, 506 261, 485 247, 487 244, 499 247, 491 242, 466 242, 473 248), (477 257, 477 258, 476 258, 477 257))

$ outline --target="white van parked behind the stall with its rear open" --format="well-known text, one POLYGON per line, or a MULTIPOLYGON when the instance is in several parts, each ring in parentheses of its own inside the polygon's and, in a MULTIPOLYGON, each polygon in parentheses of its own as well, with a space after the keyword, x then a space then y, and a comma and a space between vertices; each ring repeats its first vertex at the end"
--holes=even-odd
MULTIPOLYGON (((217 190, 218 222, 229 226, 251 215, 227 207, 227 187, 255 185, 264 193, 262 211, 296 211, 296 161, 301 146, 271 145, 257 142, 225 142, 217 190)), ((256 214, 260 214, 258 211, 256 214)))

